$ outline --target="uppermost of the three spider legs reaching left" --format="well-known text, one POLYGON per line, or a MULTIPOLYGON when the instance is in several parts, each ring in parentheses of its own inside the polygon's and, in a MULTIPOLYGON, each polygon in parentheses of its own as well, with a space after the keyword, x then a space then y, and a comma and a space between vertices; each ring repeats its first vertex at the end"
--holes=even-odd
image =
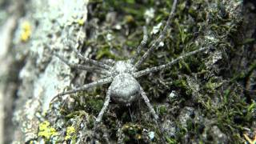
POLYGON ((68 43, 68 46, 77 54, 78 58, 81 59, 82 61, 88 62, 88 63, 90 63, 91 65, 94 65, 94 66, 102 67, 103 69, 106 69, 106 70, 111 69, 111 66, 108 66, 103 62, 98 62, 94 59, 90 59, 90 58, 86 58, 86 57, 82 56, 82 54, 78 50, 76 50, 76 48, 74 48, 74 47, 78 47, 79 44, 77 44, 78 46, 73 47, 73 46, 70 45, 70 42, 67 42, 67 43, 68 43))

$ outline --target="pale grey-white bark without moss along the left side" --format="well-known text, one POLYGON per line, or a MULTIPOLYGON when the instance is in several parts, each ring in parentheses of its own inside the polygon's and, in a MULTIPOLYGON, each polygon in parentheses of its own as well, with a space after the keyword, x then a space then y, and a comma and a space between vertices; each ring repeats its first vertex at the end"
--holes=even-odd
POLYGON ((7 107, 4 111, 0 105, 0 122, 6 118, 4 125, 9 127, 3 130, 3 125, 0 126, 0 140, 24 143, 38 137, 39 119, 49 109, 51 98, 70 86, 72 78, 70 68, 53 57, 51 51, 68 56, 70 62, 78 62, 66 44, 71 40, 84 42, 82 26, 87 3, 84 0, 10 2, 18 6, 2 19, 0 102, 7 107), (26 14, 22 15, 22 11, 26 14), (17 69, 17 73, 10 75, 10 69, 17 69), (10 79, 3 82, 7 76, 16 78, 14 83, 10 79))

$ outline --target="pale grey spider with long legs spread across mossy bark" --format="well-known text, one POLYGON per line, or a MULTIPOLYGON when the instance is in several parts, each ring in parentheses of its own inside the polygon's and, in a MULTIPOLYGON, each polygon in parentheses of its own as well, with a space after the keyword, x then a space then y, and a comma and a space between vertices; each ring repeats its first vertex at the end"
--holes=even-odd
POLYGON ((138 70, 138 68, 142 65, 142 63, 146 61, 146 58, 148 58, 155 49, 162 46, 162 41, 165 38, 166 31, 170 26, 170 20, 174 17, 174 11, 176 9, 176 6, 177 6, 177 0, 174 0, 169 17, 166 21, 166 25, 164 26, 162 32, 159 34, 158 38, 150 45, 150 48, 146 50, 146 53, 143 54, 141 58, 138 58, 138 56, 141 53, 142 47, 146 46, 146 42, 147 42, 147 34, 146 34, 145 26, 143 27, 144 34, 143 34, 142 42, 140 42, 137 48, 136 54, 134 54, 132 58, 126 61, 115 62, 114 60, 111 60, 110 62, 98 62, 96 60, 83 57, 82 54, 80 54, 78 50, 76 50, 73 47, 72 49, 77 54, 78 58, 86 62, 86 66, 84 66, 80 64, 70 63, 65 58, 62 58, 60 55, 54 54, 62 62, 66 63, 66 65, 70 66, 71 68, 78 69, 78 70, 87 70, 89 72, 102 74, 104 78, 95 82, 88 83, 84 86, 75 88, 74 90, 68 90, 68 91, 59 93, 56 96, 54 96, 52 101, 54 101, 55 98, 59 98, 66 94, 74 94, 79 91, 87 90, 94 86, 102 86, 104 84, 110 83, 110 86, 106 92, 106 99, 102 106, 102 110, 100 110, 94 122, 93 130, 95 130, 98 124, 102 121, 102 116, 106 112, 107 107, 110 104, 110 98, 114 102, 120 103, 125 106, 130 106, 130 104, 136 101, 138 98, 140 98, 139 96, 141 95, 144 102, 146 102, 146 106, 150 110, 150 114, 154 116, 154 120, 155 122, 157 122, 159 118, 158 114, 154 110, 153 106, 150 104, 149 98, 147 98, 145 91, 142 89, 142 86, 139 84, 136 78, 142 77, 143 75, 146 75, 146 74, 157 72, 158 70, 169 69, 170 66, 173 66, 175 63, 179 62, 180 60, 209 49, 208 47, 202 47, 198 50, 194 50, 189 53, 183 54, 182 56, 174 59, 171 62, 167 62, 164 65, 150 67, 145 70, 138 70))

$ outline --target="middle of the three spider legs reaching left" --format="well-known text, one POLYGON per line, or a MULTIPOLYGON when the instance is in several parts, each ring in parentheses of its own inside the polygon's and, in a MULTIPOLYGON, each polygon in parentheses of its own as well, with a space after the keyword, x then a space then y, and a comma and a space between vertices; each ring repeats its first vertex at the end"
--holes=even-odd
POLYGON ((83 66, 83 65, 80 65, 80 64, 70 63, 65 58, 63 58, 62 56, 60 56, 58 54, 54 54, 54 56, 59 58, 67 66, 70 66, 70 68, 74 68, 74 69, 78 69, 78 70, 87 70, 87 71, 90 71, 90 72, 96 72, 98 74, 103 74, 103 75, 106 75, 106 76, 110 76, 110 73, 106 70, 102 70, 102 68, 98 68, 98 67, 94 67, 94 66, 83 66))

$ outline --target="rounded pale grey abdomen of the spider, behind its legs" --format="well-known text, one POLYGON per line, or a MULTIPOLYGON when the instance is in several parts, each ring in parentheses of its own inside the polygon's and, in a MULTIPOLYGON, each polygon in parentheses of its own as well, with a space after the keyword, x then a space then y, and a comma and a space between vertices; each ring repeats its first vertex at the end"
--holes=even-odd
POLYGON ((118 103, 130 105, 138 98, 140 86, 137 80, 127 73, 118 74, 110 86, 111 98, 118 103))

